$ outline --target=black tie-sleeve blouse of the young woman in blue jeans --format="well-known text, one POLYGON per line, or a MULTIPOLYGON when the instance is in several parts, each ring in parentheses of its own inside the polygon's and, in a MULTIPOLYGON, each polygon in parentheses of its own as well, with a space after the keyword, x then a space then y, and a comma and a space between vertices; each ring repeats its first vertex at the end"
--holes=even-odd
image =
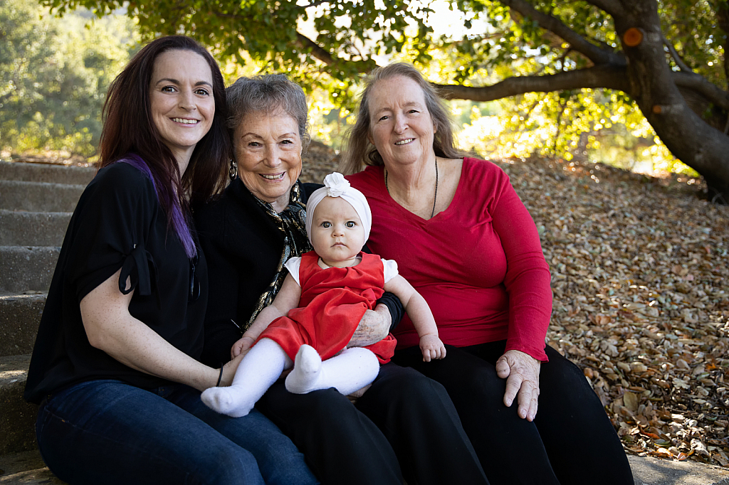
POLYGON ((120 280, 130 277, 135 290, 130 315, 200 358, 208 299, 205 258, 198 250, 195 298, 190 296, 192 263, 168 229, 152 180, 117 162, 99 170, 71 217, 36 336, 28 401, 37 403, 54 390, 90 379, 120 379, 143 388, 168 384, 125 366, 87 339, 79 302, 120 268, 120 280))

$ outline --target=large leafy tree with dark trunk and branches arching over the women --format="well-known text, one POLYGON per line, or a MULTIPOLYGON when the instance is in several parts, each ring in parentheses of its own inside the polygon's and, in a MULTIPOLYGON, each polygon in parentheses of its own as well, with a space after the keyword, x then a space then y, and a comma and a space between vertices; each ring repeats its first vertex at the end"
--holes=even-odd
MULTIPOLYGON (((122 7, 120 0, 41 1, 54 12, 86 7, 98 16, 122 7)), ((451 98, 509 98, 501 103, 512 128, 529 130, 538 119, 542 134, 534 138, 535 146, 564 157, 599 146, 599 133, 593 132, 607 127, 602 119, 624 125, 625 136, 652 139, 645 130, 650 123, 675 157, 729 194, 724 160, 729 137, 722 138, 729 114, 725 0, 453 0, 449 5, 463 12, 464 28, 470 28, 465 36, 434 33, 438 6, 429 0, 131 0, 125 8, 146 39, 185 33, 222 63, 248 60, 256 71, 284 72, 309 93, 321 88, 345 110, 353 108, 364 74, 378 63, 402 59, 423 68, 451 98), (620 36, 628 28, 642 29, 645 42, 625 47, 620 36), (616 93, 622 95, 614 101, 616 93), (679 117, 679 111, 698 117, 679 117), (632 120, 637 112, 644 116, 642 126, 632 120)), ((53 66, 61 63, 46 67, 53 66)), ((84 68, 94 66, 89 60, 84 68)), ((0 93, 11 88, 20 89, 6 83, 0 93)), ((36 112, 42 111, 33 111, 28 123, 36 112)))

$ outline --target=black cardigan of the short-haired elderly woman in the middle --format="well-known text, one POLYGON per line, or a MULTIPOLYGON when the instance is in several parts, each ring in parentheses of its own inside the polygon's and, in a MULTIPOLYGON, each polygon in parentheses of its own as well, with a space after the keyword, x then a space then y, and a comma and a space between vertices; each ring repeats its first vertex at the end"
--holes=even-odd
MULTIPOLYGON (((319 187, 303 184, 303 201, 319 187)), ((231 320, 241 326, 248 321, 276 273, 284 233, 240 178, 230 183, 219 200, 195 209, 195 228, 208 262, 209 296, 201 361, 219 366, 230 360, 230 347, 241 338, 241 331, 231 320)), ((378 303, 390 310, 391 329, 397 326, 404 313, 399 299, 385 293, 378 303)))

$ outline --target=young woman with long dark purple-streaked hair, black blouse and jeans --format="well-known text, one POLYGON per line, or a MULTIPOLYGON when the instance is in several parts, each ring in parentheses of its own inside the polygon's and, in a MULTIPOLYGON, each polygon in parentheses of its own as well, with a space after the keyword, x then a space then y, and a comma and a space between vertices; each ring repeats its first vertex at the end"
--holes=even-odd
POLYGON ((144 47, 112 84, 100 170, 71 218, 39 326, 26 399, 41 454, 69 484, 313 484, 257 411, 200 401, 230 383, 198 362, 207 265, 190 202, 225 184, 217 64, 187 37, 144 47))

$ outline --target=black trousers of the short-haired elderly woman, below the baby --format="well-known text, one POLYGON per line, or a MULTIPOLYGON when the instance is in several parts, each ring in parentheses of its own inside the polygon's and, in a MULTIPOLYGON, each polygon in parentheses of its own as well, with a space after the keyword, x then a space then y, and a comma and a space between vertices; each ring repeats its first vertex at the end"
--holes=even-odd
POLYGON ((488 484, 442 385, 387 363, 356 406, 336 390, 279 380, 257 408, 289 435, 322 484, 488 484))

